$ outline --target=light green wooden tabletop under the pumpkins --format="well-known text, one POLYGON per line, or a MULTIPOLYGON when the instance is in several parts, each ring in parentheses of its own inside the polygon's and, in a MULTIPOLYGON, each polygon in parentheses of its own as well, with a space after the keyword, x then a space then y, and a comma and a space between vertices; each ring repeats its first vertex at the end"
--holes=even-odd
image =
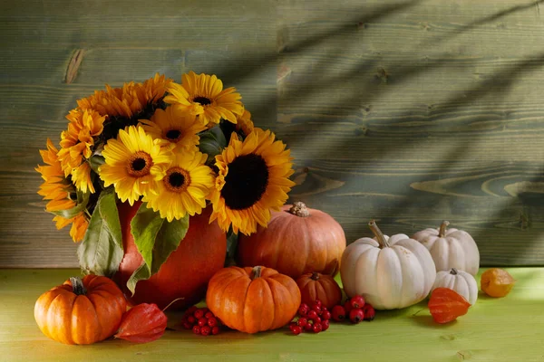
POLYGON ((378 312, 373 322, 334 323, 318 335, 293 336, 284 329, 205 338, 168 330, 148 344, 109 339, 65 346, 37 328, 34 301, 79 271, 5 269, 0 270, 0 361, 542 361, 544 268, 507 270, 518 280, 510 295, 480 295, 467 315, 447 325, 435 324, 423 301, 378 312))

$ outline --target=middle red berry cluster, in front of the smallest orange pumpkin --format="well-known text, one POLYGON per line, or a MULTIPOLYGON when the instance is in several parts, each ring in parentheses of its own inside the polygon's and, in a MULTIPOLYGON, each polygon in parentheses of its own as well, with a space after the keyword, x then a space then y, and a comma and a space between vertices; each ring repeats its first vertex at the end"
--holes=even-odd
POLYGON ((302 332, 323 332, 330 326, 331 312, 321 303, 321 300, 314 300, 309 305, 302 303, 298 308, 298 318, 289 324, 293 334, 302 332))

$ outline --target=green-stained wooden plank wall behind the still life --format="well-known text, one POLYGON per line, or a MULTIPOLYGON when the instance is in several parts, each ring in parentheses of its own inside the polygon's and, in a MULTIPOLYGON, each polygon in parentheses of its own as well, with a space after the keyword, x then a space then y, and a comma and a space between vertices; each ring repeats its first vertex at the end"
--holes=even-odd
POLYGON ((408 234, 448 219, 484 265, 542 265, 541 11, 527 0, 1 2, 0 267, 77 265, 34 172, 75 100, 190 70, 238 88, 292 148, 292 198, 335 216, 348 242, 370 218, 408 234))

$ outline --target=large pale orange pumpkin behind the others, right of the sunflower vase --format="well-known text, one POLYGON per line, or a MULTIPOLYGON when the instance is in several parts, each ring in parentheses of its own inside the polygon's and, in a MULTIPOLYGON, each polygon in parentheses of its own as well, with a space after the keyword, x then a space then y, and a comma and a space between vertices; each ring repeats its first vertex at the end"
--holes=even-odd
POLYGON ((297 202, 272 213, 267 228, 239 236, 238 263, 264 265, 295 279, 314 271, 334 276, 344 250, 342 226, 329 214, 297 202))

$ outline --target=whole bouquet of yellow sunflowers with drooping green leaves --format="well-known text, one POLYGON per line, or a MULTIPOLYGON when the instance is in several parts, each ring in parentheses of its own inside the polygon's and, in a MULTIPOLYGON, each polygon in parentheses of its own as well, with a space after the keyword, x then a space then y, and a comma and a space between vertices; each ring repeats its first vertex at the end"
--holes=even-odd
POLYGON ((292 158, 274 133, 254 126, 240 100, 215 75, 192 71, 181 84, 156 74, 77 100, 60 148, 47 139, 36 171, 56 228, 71 225, 73 241, 81 242, 84 272, 117 271, 121 204, 139 205, 131 234, 143 262, 127 284, 131 291, 207 207, 209 223, 217 221, 230 240, 267 226, 294 186, 292 158))

